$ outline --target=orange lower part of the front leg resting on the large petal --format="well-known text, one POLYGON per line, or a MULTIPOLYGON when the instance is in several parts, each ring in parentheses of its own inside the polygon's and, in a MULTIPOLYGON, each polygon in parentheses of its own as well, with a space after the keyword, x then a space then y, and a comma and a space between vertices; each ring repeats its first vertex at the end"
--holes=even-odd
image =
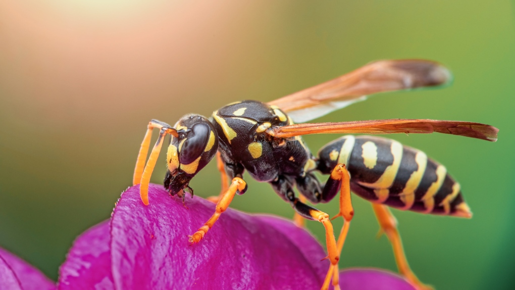
POLYGON ((232 180, 231 186, 229 186, 229 189, 222 195, 218 203, 216 204, 216 211, 211 216, 211 218, 205 222, 205 224, 198 229, 193 235, 190 235, 190 243, 198 243, 202 238, 204 237, 205 233, 209 231, 215 224, 215 221, 220 217, 220 214, 222 212, 225 212, 227 208, 229 207, 229 204, 231 203, 232 199, 234 198, 234 195, 236 192, 243 192, 247 188, 247 183, 239 178, 235 177, 232 180))

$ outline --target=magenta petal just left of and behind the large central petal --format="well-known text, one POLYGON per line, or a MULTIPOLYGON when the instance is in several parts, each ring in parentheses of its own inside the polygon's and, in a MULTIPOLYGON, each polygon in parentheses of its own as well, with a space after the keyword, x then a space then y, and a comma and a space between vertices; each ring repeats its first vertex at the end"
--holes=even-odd
POLYGON ((81 234, 59 269, 58 288, 114 289, 109 240, 109 221, 104 221, 81 234))

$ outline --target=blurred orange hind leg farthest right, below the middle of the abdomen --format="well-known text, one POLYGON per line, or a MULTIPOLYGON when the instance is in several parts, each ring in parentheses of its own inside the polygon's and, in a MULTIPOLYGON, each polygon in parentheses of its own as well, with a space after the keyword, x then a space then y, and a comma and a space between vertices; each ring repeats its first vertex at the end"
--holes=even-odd
POLYGON ((391 246, 393 248, 393 255, 395 256, 395 261, 397 263, 397 267, 399 268, 400 274, 404 276, 406 280, 408 280, 418 290, 433 289, 433 287, 420 282, 417 276, 415 276, 413 271, 411 271, 409 268, 406 255, 402 247, 401 236, 397 230, 397 219, 383 204, 372 203, 372 208, 374 209, 377 221, 379 221, 379 225, 381 226, 380 234, 385 233, 388 237, 388 240, 390 240, 391 246))

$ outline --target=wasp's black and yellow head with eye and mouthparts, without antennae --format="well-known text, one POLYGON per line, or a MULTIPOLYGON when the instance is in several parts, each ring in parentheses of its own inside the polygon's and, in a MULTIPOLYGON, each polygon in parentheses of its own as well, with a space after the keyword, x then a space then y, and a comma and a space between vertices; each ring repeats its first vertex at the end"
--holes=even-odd
POLYGON ((218 138, 211 122, 200 115, 186 115, 175 125, 178 137, 168 146, 168 172, 165 186, 171 194, 184 189, 218 149, 218 138))

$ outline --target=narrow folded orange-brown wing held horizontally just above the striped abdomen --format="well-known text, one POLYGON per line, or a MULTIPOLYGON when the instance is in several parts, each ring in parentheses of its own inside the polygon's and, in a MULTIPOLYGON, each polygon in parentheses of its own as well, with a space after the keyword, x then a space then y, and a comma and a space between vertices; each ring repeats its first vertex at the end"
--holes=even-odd
POLYGON ((483 139, 492 142, 497 141, 497 132, 499 132, 499 129, 493 126, 480 123, 427 119, 391 119, 336 123, 304 123, 283 127, 273 127, 271 129, 272 131, 270 133, 278 138, 288 138, 299 135, 320 133, 428 134, 438 132, 483 139))

